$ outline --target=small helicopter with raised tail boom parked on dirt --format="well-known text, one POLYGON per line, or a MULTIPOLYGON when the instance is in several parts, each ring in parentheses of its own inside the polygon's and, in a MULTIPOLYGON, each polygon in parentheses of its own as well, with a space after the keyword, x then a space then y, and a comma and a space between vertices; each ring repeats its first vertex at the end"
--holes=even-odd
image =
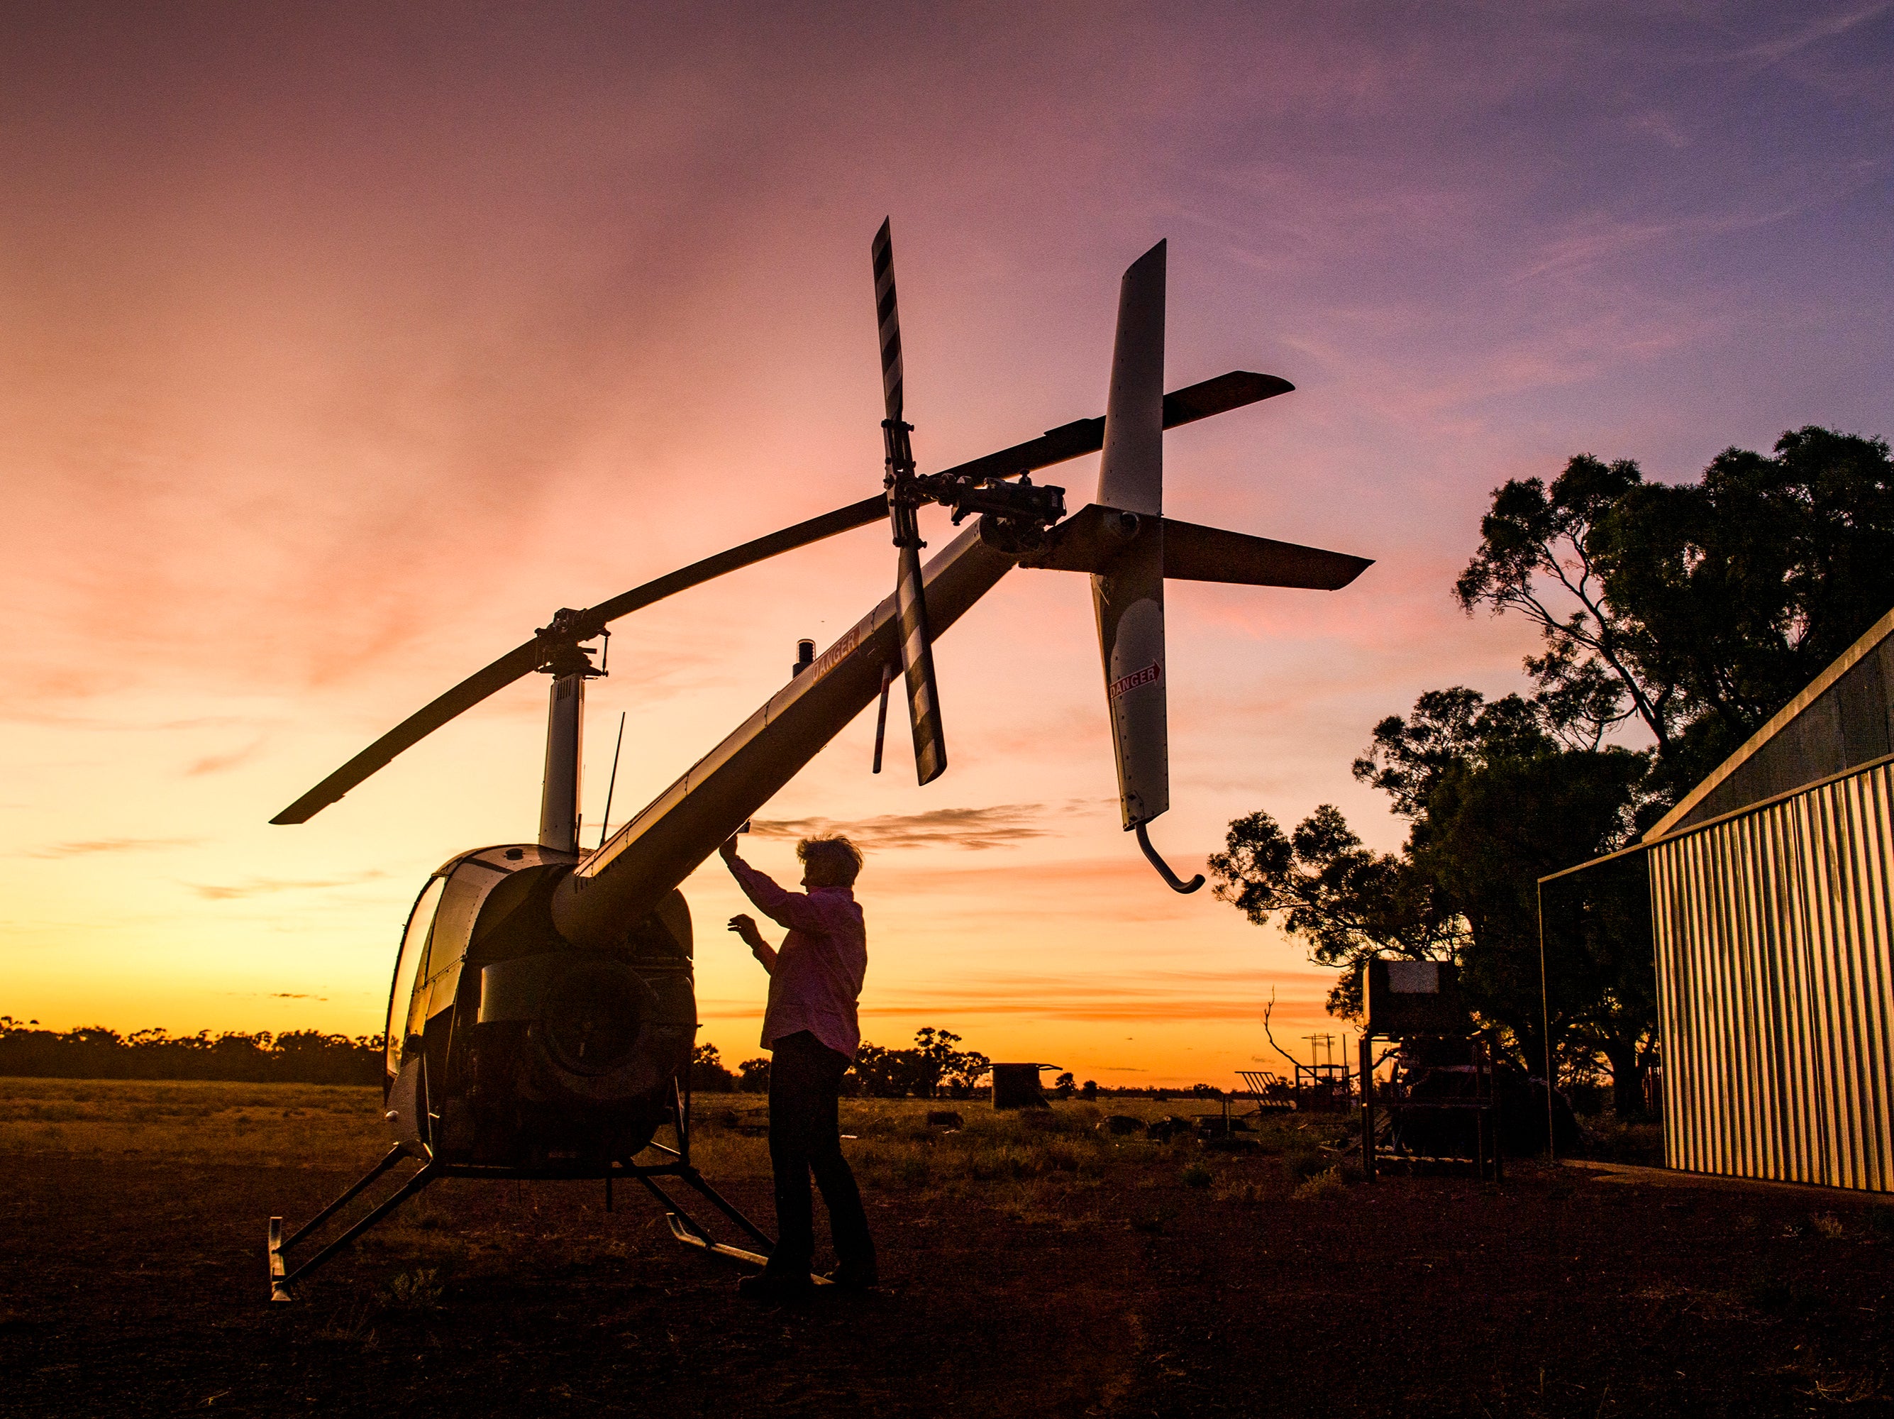
MULTIPOLYGON (((1163 515, 1165 430, 1294 386, 1231 371, 1172 392, 1165 371, 1159 241, 1123 273, 1102 417, 1078 419, 953 468, 917 472, 905 421, 890 224, 871 244, 883 373, 883 487, 873 496, 744 542, 589 608, 561 608, 530 640, 398 724, 271 822, 307 822, 402 750, 528 674, 551 676, 540 832, 530 843, 460 853, 422 885, 388 993, 386 1156, 297 1231, 269 1222, 271 1298, 328 1262, 405 1199, 445 1177, 602 1178, 644 1186, 672 1235, 761 1266, 771 1237, 691 1163, 689 1061, 697 1033, 691 915, 680 883, 742 830, 879 695, 873 771, 888 697, 902 680, 915 775, 947 769, 934 640, 1015 566, 1091 576, 1123 828, 1178 892, 1150 841, 1170 807, 1165 580, 1339 589, 1371 563, 1163 515), (1032 474, 1102 453, 1097 498, 1068 513, 1064 489, 1032 474), (919 510, 955 527, 922 563, 919 510), (850 529, 884 521, 896 589, 820 656, 803 640, 788 684, 599 847, 580 847, 585 684, 608 673, 610 623, 665 597, 850 529), (591 642, 606 656, 593 661, 591 642), (659 1139, 669 1129, 669 1142, 659 1139), (420 1167, 297 1267, 288 1252, 403 1159, 420 1167), (644 1161, 640 1161, 644 1159, 644 1161), (722 1212, 748 1250, 712 1237, 667 1192, 682 1184, 722 1212)), ((820 1279, 818 1279, 820 1281, 820 1279)))

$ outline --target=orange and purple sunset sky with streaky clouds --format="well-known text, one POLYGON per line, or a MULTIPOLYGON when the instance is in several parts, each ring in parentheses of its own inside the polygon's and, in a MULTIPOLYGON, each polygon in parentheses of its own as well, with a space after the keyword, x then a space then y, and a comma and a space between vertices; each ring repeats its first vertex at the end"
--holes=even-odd
MULTIPOLYGON (((922 472, 1102 411, 1170 241, 1167 512, 1375 557, 1172 584, 1180 871, 1339 803, 1373 722, 1521 684, 1449 585, 1489 489, 1894 432, 1890 11, 1856 6, 11 6, 0 17, 0 1012, 381 1029, 449 854, 530 839, 544 678, 267 818, 544 625, 881 485, 892 214, 922 472)), ((1047 470, 1089 500, 1097 458, 1047 470)), ((924 515, 934 546, 945 513, 924 515)), ((892 589, 864 529, 617 625, 587 843, 892 589)), ((864 1031, 1227 1084, 1328 974, 1119 832, 1083 578, 938 650, 949 773, 864 714, 763 818, 869 847, 864 1031)), ((794 873, 792 837, 752 858, 794 873)), ((792 877, 794 879, 794 877, 792 877)), ((697 919, 699 1038, 763 978, 697 919)))

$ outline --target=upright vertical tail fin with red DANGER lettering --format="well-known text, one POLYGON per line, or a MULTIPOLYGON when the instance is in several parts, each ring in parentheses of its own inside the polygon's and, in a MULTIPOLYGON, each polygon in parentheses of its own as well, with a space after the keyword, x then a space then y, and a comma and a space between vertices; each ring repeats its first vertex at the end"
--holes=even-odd
POLYGON ((1091 578, 1125 830, 1170 807, 1165 703, 1165 244, 1131 263, 1117 296, 1099 502, 1144 525, 1091 578))

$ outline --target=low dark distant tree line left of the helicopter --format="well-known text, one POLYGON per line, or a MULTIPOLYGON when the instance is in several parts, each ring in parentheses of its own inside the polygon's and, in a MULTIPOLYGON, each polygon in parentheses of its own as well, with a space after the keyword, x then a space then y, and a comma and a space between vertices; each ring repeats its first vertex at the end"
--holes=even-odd
POLYGON ((244 1080, 252 1084, 381 1084, 379 1034, 259 1031, 119 1034, 102 1025, 38 1029, 0 1015, 0 1074, 72 1080, 244 1080))

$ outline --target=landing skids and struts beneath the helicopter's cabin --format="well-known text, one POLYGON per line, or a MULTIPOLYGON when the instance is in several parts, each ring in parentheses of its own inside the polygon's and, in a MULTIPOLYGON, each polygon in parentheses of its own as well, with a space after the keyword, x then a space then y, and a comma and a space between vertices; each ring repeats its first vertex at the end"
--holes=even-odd
MULTIPOLYGON (((354 1201, 369 1184, 379 1177, 388 1173, 403 1158, 415 1154, 409 1152, 409 1144, 396 1144, 388 1154, 375 1163, 367 1173, 364 1173, 356 1182, 352 1182, 335 1201, 309 1218, 301 1228, 297 1228, 288 1237, 282 1235, 282 1218, 269 1218, 269 1298, 273 1302, 294 1302, 295 1283, 303 1281, 311 1271, 320 1267, 339 1250, 348 1247, 356 1237, 383 1222, 394 1212, 402 1203, 405 1203, 415 1194, 422 1192, 432 1182, 441 1178, 538 1178, 538 1180, 593 1180, 604 1178, 606 1211, 612 1207, 612 1184, 617 1178, 636 1178, 644 1184, 646 1192, 657 1199, 657 1205, 665 1209, 665 1222, 670 1226, 670 1235, 688 1247, 695 1247, 703 1252, 714 1252, 716 1256, 727 1256, 742 1266, 763 1267, 769 1262, 769 1252, 775 1250, 775 1239, 756 1226, 748 1216, 744 1216, 735 1203, 731 1203, 724 1194, 705 1182, 703 1173, 691 1165, 691 1123, 689 1123, 689 1093, 680 1089, 676 1093, 676 1110, 672 1114, 676 1122, 678 1146, 669 1148, 661 1142, 650 1144, 650 1148, 669 1154, 669 1161, 663 1163, 625 1163, 614 1161, 604 1171, 591 1173, 545 1173, 534 1169, 519 1167, 475 1167, 464 1163, 441 1163, 422 1144, 422 1154, 419 1158, 420 1167, 409 1175, 394 1194, 377 1203, 360 1220, 356 1220, 347 1231, 330 1241, 322 1250, 311 1256, 307 1262, 297 1266, 294 1271, 288 1267, 288 1252, 305 1237, 316 1231, 324 1222, 328 1222, 335 1212, 354 1201), (684 1211, 672 1199, 669 1192, 659 1186, 659 1178, 676 1178, 684 1186, 697 1192, 705 1201, 724 1212, 729 1222, 737 1226, 759 1250, 744 1250, 741 1247, 731 1247, 727 1243, 716 1241, 710 1231, 697 1222, 689 1212, 684 1211)), ((830 1284, 826 1277, 811 1277, 816 1284, 830 1284)))

